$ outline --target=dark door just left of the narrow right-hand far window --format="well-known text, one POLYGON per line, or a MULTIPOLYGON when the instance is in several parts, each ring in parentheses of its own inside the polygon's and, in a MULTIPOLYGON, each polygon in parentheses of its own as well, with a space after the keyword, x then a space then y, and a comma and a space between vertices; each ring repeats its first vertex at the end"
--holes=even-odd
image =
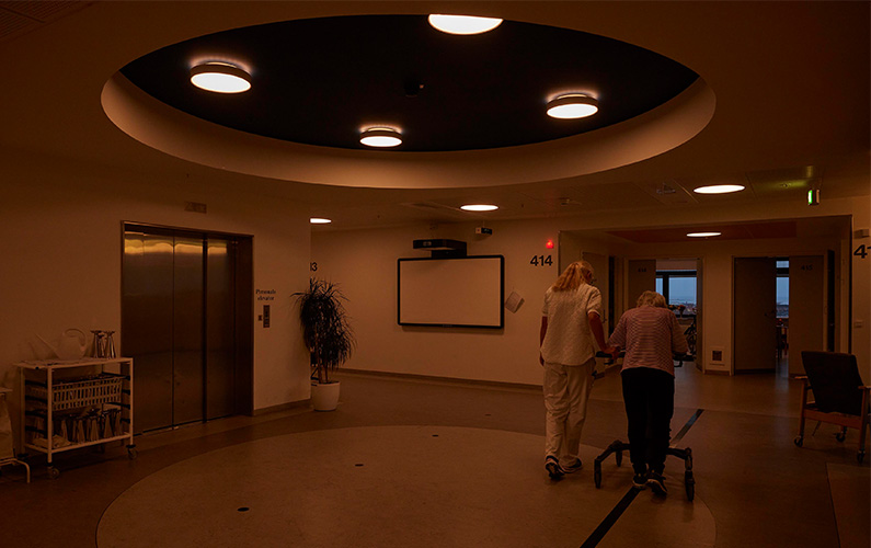
POLYGON ((777 368, 776 278, 775 258, 735 258, 732 295, 735 374, 773 373, 777 368))

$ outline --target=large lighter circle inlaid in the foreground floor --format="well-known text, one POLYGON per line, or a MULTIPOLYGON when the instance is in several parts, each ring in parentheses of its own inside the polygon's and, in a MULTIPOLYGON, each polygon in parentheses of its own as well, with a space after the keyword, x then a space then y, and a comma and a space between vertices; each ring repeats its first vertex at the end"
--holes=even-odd
MULTIPOLYGON (((583 446, 585 468, 553 483, 542 443, 448 426, 324 430, 243 443, 129 488, 101 518, 98 546, 577 547, 627 493, 631 468, 610 458, 596 489, 600 449, 583 446)), ((686 500, 683 467, 669 466, 669 495, 639 493, 599 546, 642 538, 646 546, 713 546, 708 506, 698 494, 686 500)))

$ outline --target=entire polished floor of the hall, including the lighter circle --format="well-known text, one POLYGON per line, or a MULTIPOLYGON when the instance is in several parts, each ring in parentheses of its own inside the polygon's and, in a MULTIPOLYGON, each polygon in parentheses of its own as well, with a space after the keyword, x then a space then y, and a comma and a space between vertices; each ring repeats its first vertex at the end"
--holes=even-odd
MULTIPOLYGON (((689 365, 689 364, 688 364, 689 365)), ((863 547, 868 459, 857 432, 823 424, 802 448, 800 384, 677 369, 673 435, 695 456, 695 499, 669 457, 665 499, 631 496, 630 472, 593 458, 624 437, 618 375, 596 381, 583 470, 542 467, 540 391, 341 375, 334 412, 297 409, 139 436, 44 458, 0 477, 3 546, 863 547), (695 422, 690 419, 696 418, 695 422)))

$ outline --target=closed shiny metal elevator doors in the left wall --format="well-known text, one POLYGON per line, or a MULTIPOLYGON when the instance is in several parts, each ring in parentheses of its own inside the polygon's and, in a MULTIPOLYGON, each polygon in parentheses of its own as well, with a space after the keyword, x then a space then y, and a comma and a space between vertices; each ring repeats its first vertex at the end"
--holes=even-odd
POLYGON ((124 225, 136 433, 251 412, 251 237, 124 225))

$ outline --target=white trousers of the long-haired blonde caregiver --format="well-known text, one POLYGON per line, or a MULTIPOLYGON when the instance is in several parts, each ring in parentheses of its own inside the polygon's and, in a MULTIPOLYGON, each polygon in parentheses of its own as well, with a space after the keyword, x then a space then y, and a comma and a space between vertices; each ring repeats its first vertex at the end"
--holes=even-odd
POLYGON ((595 366, 595 358, 583 365, 545 363, 546 457, 568 465, 577 458, 595 366))

